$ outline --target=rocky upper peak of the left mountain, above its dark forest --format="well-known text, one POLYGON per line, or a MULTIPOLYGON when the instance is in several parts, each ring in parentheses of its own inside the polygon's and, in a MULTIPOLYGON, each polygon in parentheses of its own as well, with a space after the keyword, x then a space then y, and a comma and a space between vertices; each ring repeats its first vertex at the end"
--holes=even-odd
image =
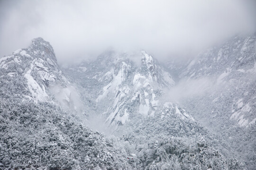
POLYGON ((1 97, 58 102, 65 109, 82 111, 79 94, 58 66, 52 46, 42 38, 1 58, 0 77, 1 97))

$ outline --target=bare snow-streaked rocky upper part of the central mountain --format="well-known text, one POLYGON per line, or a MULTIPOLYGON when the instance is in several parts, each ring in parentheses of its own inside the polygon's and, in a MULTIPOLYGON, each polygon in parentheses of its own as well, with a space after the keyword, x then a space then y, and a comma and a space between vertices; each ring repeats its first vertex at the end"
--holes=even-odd
POLYGON ((158 100, 161 91, 174 85, 172 76, 146 51, 136 57, 141 58, 139 66, 128 54, 110 51, 92 63, 68 70, 70 74, 75 72, 72 75, 84 75, 82 79, 76 79, 84 88, 95 82, 93 91, 97 95, 93 97, 108 125, 123 125, 135 112, 146 117, 154 116, 161 106, 158 100), (79 73, 81 67, 86 67, 86 71, 79 73))

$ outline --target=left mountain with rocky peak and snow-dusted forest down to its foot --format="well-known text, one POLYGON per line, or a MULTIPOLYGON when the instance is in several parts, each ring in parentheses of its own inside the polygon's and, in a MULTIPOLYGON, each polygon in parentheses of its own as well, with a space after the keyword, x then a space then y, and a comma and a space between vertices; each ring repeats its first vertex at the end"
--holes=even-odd
POLYGON ((0 169, 129 168, 111 141, 82 125, 81 103, 42 38, 1 58, 0 169))

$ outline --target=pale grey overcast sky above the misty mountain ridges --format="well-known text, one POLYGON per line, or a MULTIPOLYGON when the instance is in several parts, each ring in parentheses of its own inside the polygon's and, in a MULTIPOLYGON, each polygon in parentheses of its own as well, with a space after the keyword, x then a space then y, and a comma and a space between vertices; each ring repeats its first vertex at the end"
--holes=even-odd
POLYGON ((192 57, 256 31, 256 0, 0 0, 0 57, 42 37, 61 64, 106 49, 192 57))

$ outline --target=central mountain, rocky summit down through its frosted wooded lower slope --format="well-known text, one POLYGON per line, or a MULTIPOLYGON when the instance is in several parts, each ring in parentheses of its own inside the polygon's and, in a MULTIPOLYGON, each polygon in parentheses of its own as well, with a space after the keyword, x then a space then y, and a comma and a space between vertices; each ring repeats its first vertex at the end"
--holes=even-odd
POLYGON ((129 55, 108 51, 95 61, 66 71, 80 88, 91 91, 91 105, 96 112, 90 112, 104 118, 105 126, 118 137, 116 147, 138 155, 133 168, 234 169, 242 165, 218 153, 216 148, 229 149, 220 146, 225 141, 211 136, 183 106, 165 99, 166 89, 175 82, 157 60, 145 51, 129 55), (133 62, 134 57, 139 57, 141 63, 133 62), (204 161, 200 162, 203 155, 204 161))

